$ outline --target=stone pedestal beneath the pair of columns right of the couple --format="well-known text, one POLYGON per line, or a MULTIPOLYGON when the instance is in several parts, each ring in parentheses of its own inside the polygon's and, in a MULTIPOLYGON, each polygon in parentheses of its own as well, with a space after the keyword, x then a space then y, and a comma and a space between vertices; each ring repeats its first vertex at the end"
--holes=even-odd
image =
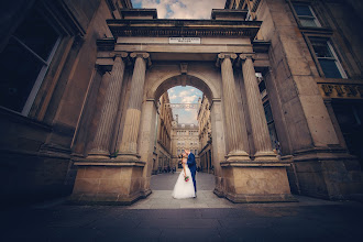
POLYGON ((283 162, 223 162, 224 197, 232 202, 297 201, 290 194, 288 165, 283 162))

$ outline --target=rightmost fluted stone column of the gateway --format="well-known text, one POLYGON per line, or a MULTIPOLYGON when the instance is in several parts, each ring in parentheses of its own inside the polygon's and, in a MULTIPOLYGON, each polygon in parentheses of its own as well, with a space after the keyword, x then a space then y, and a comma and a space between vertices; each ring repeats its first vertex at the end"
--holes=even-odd
POLYGON ((253 142, 256 151, 255 161, 277 161, 271 145, 267 121, 261 100, 252 54, 241 54, 240 58, 242 59, 244 87, 250 111, 253 142))

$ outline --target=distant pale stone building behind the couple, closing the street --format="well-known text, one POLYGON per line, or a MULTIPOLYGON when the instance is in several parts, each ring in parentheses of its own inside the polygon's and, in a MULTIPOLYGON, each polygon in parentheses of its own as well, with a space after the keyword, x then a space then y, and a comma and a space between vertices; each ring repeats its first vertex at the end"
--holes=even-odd
POLYGON ((182 168, 180 154, 185 148, 189 148, 196 156, 197 166, 199 163, 199 139, 198 139, 198 125, 191 123, 179 123, 178 119, 173 123, 173 167, 182 168))

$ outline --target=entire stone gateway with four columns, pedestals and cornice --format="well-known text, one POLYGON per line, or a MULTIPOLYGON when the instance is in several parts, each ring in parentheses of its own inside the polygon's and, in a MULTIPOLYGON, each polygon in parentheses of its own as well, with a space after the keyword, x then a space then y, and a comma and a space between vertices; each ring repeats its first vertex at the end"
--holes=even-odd
POLYGON ((251 40, 261 23, 243 20, 242 14, 241 21, 222 22, 154 18, 109 22, 116 38, 98 42, 97 64, 112 66, 110 85, 94 141, 96 148, 76 163, 81 168, 74 200, 131 204, 151 194, 156 100, 168 88, 187 84, 204 91, 211 102, 215 193, 233 202, 292 200, 285 169, 288 164, 278 161, 272 150, 255 77, 253 61, 260 55, 254 54, 251 40), (173 44, 172 35, 183 36, 182 42, 173 44), (199 41, 187 44, 185 37, 199 41), (239 80, 243 88, 235 88, 235 73, 243 76, 239 80), (123 81, 130 85, 120 114, 124 117, 122 123, 116 122, 116 113, 123 81), (245 97, 243 106, 239 103, 241 96, 245 97), (109 134, 119 127, 120 152, 112 158, 109 134))

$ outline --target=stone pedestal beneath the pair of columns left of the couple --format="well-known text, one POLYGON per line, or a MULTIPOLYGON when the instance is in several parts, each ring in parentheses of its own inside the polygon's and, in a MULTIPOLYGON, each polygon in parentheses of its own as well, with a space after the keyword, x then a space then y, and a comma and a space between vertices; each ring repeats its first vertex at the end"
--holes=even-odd
POLYGON ((142 189, 143 162, 77 161, 78 173, 68 204, 131 205, 151 190, 142 189))

